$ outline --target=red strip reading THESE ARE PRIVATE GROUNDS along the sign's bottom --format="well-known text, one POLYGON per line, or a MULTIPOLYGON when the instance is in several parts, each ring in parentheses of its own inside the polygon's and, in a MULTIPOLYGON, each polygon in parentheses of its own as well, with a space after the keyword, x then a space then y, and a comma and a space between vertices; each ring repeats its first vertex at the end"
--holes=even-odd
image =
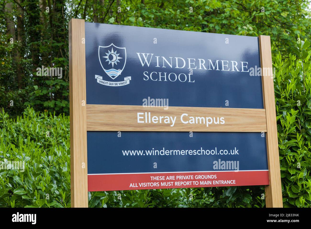
POLYGON ((268 184, 268 170, 88 175, 89 192, 268 184))

